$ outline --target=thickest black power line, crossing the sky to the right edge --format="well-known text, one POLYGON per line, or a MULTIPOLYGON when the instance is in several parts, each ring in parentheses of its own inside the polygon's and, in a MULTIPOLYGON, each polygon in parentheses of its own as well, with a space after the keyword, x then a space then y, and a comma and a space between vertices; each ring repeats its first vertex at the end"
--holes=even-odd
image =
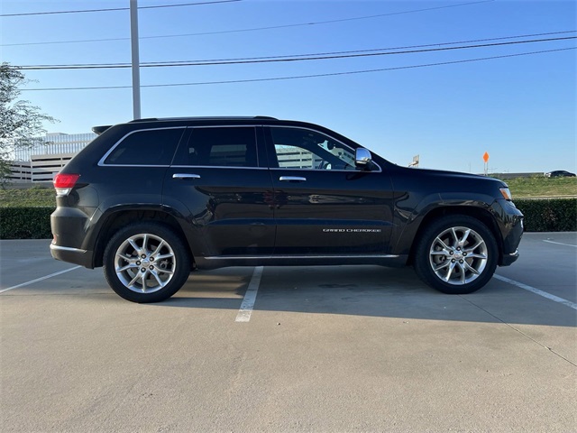
MULTIPOLYGON (((396 54, 414 54, 421 52, 435 52, 435 51, 454 51, 454 50, 468 50, 474 48, 488 48, 488 47, 498 47, 505 45, 517 45, 521 43, 536 43, 536 42, 548 42, 548 41, 567 41, 571 39, 577 39, 577 36, 567 36, 563 38, 548 38, 548 39, 534 39, 528 41, 508 41, 508 42, 496 42, 496 43, 483 43, 476 45, 467 45, 459 47, 444 47, 444 48, 428 48, 422 50, 408 50, 408 51, 393 51, 393 52, 365 52, 362 54, 335 54, 335 55, 325 55, 325 56, 310 56, 310 57, 292 57, 292 58, 280 58, 280 59, 261 59, 261 60, 219 60, 219 61, 206 61, 206 60, 180 60, 180 61, 167 61, 167 62, 151 62, 142 63, 141 68, 169 68, 169 67, 182 67, 182 66, 215 66, 215 65, 239 65, 239 64, 253 64, 253 63, 270 63, 270 62, 285 62, 285 61, 303 61, 303 60, 334 60, 334 59, 353 59, 359 57, 375 57, 375 56, 389 56, 396 54)), ((118 64, 89 64, 89 65, 36 65, 36 66, 22 66, 18 67, 21 70, 60 70, 60 69, 127 69, 132 68, 130 63, 118 63, 118 64)))

